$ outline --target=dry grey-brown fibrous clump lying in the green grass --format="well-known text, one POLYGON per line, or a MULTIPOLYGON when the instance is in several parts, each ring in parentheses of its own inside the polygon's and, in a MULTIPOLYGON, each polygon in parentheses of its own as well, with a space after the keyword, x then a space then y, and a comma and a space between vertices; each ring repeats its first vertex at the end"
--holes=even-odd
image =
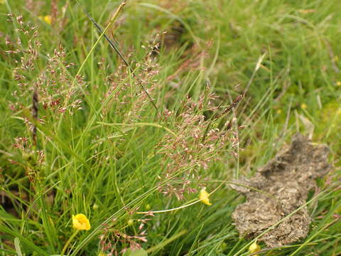
MULTIPOLYGON (((231 187, 247 197, 247 202, 232 213, 239 234, 246 238, 261 235, 303 206, 308 192, 316 186, 315 178, 325 176, 332 169, 328 154, 328 146, 313 144, 297 134, 291 146, 259 169, 254 177, 234 181, 231 187)), ((288 245, 305 238, 309 224, 310 216, 303 206, 259 240, 270 247, 288 245)))

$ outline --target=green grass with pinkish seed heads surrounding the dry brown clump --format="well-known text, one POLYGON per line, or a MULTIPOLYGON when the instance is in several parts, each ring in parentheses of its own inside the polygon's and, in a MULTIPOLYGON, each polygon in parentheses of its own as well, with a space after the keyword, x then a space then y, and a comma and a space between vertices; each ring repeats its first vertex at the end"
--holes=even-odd
POLYGON ((339 169, 289 247, 239 238, 225 182, 307 123, 340 166, 338 1, 120 4, 0 5, 0 255, 337 255, 339 169))

